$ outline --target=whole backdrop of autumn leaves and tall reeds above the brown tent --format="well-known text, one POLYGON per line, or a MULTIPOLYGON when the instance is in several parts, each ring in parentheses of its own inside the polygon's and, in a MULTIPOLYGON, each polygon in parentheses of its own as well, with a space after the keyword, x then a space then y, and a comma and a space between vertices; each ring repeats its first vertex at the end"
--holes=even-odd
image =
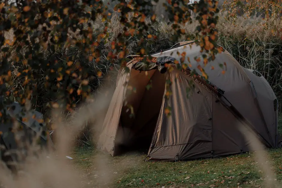
MULTIPOLYGON (((127 61, 126 55, 151 54, 214 34, 212 43, 227 49, 242 66, 262 73, 282 110, 280 1, 185 6, 164 0, 14 2, 16 7, 1 3, 1 109, 8 101, 30 101, 49 123, 52 109, 60 107, 62 114, 71 115, 103 82, 115 82, 109 73, 127 61), (203 22, 205 13, 208 23, 203 22)), ((211 55, 217 49, 205 52, 211 55)))

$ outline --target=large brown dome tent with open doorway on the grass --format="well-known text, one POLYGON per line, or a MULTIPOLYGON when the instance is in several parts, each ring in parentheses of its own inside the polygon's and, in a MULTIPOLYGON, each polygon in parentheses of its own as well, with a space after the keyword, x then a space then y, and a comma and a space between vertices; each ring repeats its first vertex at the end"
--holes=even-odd
POLYGON ((119 71, 98 147, 112 156, 147 147, 149 160, 191 160, 250 151, 243 135, 250 130, 266 147, 279 147, 277 99, 265 78, 226 50, 205 67, 196 55, 202 58, 200 47, 189 41, 150 61, 133 56, 129 73, 119 71), (180 70, 183 54, 189 66, 180 70))

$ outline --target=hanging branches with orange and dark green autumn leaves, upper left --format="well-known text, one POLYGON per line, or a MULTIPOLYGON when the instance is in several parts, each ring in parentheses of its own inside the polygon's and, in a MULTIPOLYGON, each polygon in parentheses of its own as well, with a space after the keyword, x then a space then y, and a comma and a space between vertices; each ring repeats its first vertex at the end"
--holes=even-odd
MULTIPOLYGON (((168 0, 164 7, 174 32, 170 40, 190 40, 182 26, 192 22, 192 12, 197 13, 198 44, 205 57, 213 59, 218 52, 217 4, 168 0)), ((113 11, 107 5, 101 0, 1 1, 0 109, 16 100, 40 106, 37 109, 44 109, 45 120, 53 108, 72 112, 88 99, 107 70, 127 61, 132 37, 139 39, 137 54, 149 55, 148 43, 158 38, 150 33, 157 20, 152 1, 119 0, 113 11), (115 37, 109 28, 113 15, 122 25, 115 37), (5 38, 5 32, 12 37, 5 38), (105 46, 110 48, 105 51, 105 46)), ((1 114, 4 120, 5 113, 1 114)))

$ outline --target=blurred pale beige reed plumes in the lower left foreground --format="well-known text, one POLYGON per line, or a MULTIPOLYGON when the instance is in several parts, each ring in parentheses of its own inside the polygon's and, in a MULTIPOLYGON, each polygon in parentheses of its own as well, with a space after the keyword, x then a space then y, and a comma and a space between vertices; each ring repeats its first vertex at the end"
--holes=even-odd
MULTIPOLYGON (((110 82, 110 84, 115 84, 110 82)), ((7 188, 47 188, 47 187, 66 187, 77 188, 87 187, 89 178, 83 176, 83 171, 78 169, 75 164, 68 160, 65 156, 70 154, 73 149, 74 139, 83 129, 86 121, 95 121, 95 135, 98 137, 99 128, 103 123, 103 117, 107 112, 107 107, 113 94, 111 85, 104 85, 99 89, 88 103, 82 105, 72 116, 63 119, 56 116, 59 111, 54 111, 54 122, 56 127, 56 144, 55 151, 44 150, 37 153, 38 156, 30 154, 20 164, 20 170, 17 175, 13 175, 4 163, 1 163, 0 185, 7 188), (110 89, 109 89, 110 88, 110 89), (71 118, 72 121, 68 121, 71 118)), ((32 150, 32 149, 30 149, 32 150)), ((99 174, 96 178, 95 185, 97 187, 109 187, 116 178, 113 170, 119 172, 122 169, 136 165, 135 161, 127 161, 126 165, 121 168, 114 168, 113 164, 108 162, 108 155, 99 154, 93 156, 93 171, 99 174)), ((93 177, 92 177, 93 178, 93 177)), ((96 186, 95 186, 96 187, 96 186)))

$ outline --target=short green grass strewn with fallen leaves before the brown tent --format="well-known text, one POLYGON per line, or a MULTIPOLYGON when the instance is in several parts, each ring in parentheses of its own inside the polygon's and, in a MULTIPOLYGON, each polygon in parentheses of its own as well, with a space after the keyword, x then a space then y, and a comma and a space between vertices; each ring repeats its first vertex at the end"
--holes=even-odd
MULTIPOLYGON (((282 133, 282 117, 279 118, 282 133)), ((268 149, 269 163, 282 181, 282 148, 268 149)), ((90 187, 261 187, 262 172, 254 153, 217 159, 145 162, 145 153, 102 156, 91 147, 77 148, 74 160, 90 187)))

